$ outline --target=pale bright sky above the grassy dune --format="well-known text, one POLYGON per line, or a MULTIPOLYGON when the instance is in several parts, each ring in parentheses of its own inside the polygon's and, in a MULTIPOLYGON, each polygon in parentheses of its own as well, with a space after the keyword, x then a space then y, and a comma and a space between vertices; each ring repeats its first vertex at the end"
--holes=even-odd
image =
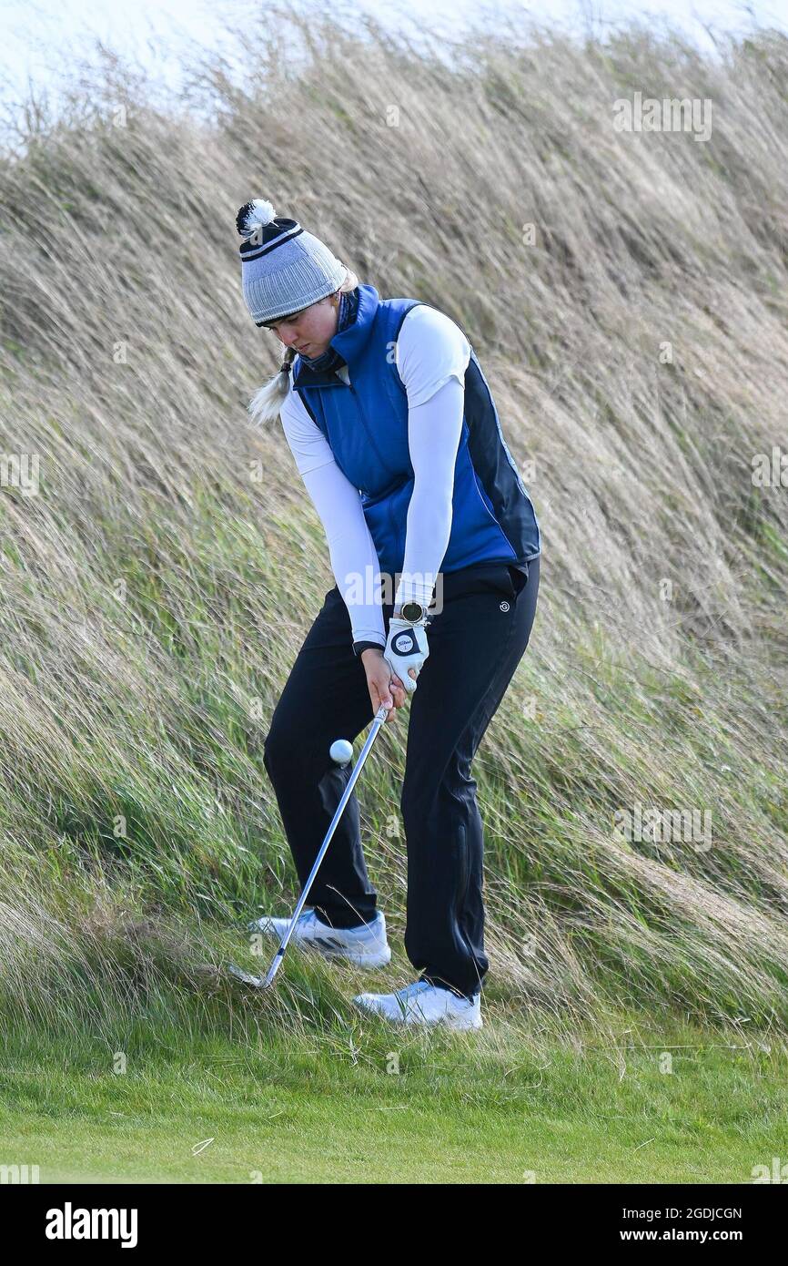
MULTIPOLYGON (((307 0, 309 3, 309 0, 307 0)), ((331 8, 334 9, 336 0, 331 8)), ((426 24, 438 32, 495 22, 498 11, 550 22, 579 35, 603 35, 617 23, 669 19, 713 53, 706 28, 742 34, 754 25, 788 33, 788 0, 342 0, 411 37, 426 24)), ((301 4, 304 8, 304 4, 301 4)), ((321 8, 325 8, 323 5, 321 8)), ((259 0, 0 0, 0 101, 14 105, 28 86, 57 100, 57 85, 77 60, 91 60, 96 39, 140 63, 154 82, 177 90, 188 49, 233 48, 228 27, 264 20, 259 0)))

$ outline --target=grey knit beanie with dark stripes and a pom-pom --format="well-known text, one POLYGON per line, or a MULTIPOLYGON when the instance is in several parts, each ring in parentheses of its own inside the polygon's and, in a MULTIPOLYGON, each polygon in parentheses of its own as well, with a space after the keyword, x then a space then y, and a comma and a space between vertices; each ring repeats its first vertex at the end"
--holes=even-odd
POLYGON ((244 238, 240 276, 247 306, 255 325, 301 311, 339 290, 345 266, 320 238, 297 220, 277 216, 261 197, 244 203, 235 216, 244 238))

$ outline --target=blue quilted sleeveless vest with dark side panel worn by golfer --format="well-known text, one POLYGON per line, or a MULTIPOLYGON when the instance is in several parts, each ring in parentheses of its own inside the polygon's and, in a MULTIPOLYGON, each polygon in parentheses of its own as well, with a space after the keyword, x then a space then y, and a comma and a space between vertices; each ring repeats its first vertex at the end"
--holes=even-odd
MULTIPOLYGON (((359 490, 381 572, 393 577, 405 561, 414 490, 407 394, 395 365, 395 344, 406 313, 421 300, 379 299, 374 286, 358 289, 355 320, 331 339, 348 363, 350 385, 334 371, 315 372, 296 357, 293 389, 328 439, 336 465, 359 490)), ((443 572, 478 563, 521 563, 541 548, 534 506, 506 447, 473 348, 464 385, 452 534, 443 572)))

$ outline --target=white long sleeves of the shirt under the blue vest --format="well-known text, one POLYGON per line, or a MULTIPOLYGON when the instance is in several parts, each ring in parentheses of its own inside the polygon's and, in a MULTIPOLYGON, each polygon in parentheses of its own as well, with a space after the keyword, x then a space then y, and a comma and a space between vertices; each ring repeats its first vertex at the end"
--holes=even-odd
MULTIPOLYGON (((445 313, 419 305, 405 315, 395 363, 407 394, 407 442, 415 479, 407 508, 402 577, 395 594, 397 604, 409 599, 429 604, 449 544, 469 360, 468 339, 445 313)), ((349 382, 347 366, 336 372, 349 382)), ((386 646, 381 604, 372 598, 359 601, 354 580, 376 577, 379 571, 360 492, 340 471, 328 439, 292 389, 292 379, 281 418, 296 467, 323 523, 331 570, 350 615, 353 641, 386 646)))

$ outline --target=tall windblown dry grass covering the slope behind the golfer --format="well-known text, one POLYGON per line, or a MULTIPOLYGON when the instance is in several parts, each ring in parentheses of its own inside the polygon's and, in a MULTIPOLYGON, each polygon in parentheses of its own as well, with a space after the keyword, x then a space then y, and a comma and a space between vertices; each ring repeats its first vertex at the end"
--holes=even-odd
MULTIPOLYGON (((788 489, 751 462, 788 449, 788 41, 269 29, 180 109, 110 61, 0 166, 0 449, 40 461, 38 495, 0 489, 9 1013, 134 1015, 151 961, 200 998, 183 946, 292 900, 262 742, 334 580, 245 415, 277 356, 234 214, 266 196, 463 325, 540 517, 533 644, 474 766, 501 1014, 784 1023, 788 489), (616 132, 636 91, 711 100, 711 139, 616 132), (711 847, 622 839, 637 804, 710 812, 711 847)), ((405 739, 360 794, 395 936, 405 739)))

